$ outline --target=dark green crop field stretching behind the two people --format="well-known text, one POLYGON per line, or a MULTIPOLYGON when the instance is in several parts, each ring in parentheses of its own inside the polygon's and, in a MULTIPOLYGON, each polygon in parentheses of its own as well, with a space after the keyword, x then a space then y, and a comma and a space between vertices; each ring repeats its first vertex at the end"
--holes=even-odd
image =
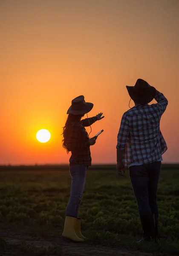
MULTIPOLYGON (((52 169, 36 166, 0 170, 1 254, 13 247, 13 250, 26 251, 25 255, 64 255, 61 254, 61 247, 41 248, 38 250, 43 250, 43 253, 39 254, 39 251, 33 249, 33 246, 29 248, 25 242, 14 245, 6 242, 7 230, 21 234, 23 232, 21 240, 27 235, 33 239, 51 241, 61 237, 71 183, 68 169, 61 169, 58 166, 53 166, 52 169), (3 236, 5 233, 6 236, 3 236)), ((128 171, 122 177, 117 175, 113 166, 89 168, 80 208, 82 230, 89 238, 85 244, 179 255, 177 166, 165 166, 162 170, 158 203, 159 244, 150 242, 136 245, 134 241, 140 239, 141 224, 128 171)))

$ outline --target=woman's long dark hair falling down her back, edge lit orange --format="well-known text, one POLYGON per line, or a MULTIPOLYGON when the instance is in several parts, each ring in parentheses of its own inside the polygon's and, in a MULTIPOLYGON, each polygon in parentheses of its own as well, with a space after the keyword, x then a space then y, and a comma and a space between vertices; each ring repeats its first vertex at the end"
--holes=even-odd
POLYGON ((84 115, 69 114, 66 119, 65 126, 63 127, 63 133, 61 135, 63 135, 62 146, 63 146, 63 148, 66 149, 67 153, 69 153, 68 148, 67 148, 67 139, 69 136, 69 126, 72 124, 72 122, 80 121, 82 116, 84 116, 84 115))

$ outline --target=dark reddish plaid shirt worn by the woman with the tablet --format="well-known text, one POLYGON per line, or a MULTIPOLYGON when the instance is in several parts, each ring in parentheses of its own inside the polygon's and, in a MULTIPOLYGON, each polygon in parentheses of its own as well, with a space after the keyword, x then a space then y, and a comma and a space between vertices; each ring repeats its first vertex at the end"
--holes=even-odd
POLYGON ((73 122, 69 127, 69 137, 67 140, 68 151, 72 152, 69 164, 80 164, 91 166, 90 143, 87 131, 84 127, 92 125, 97 121, 97 117, 91 117, 73 122))

